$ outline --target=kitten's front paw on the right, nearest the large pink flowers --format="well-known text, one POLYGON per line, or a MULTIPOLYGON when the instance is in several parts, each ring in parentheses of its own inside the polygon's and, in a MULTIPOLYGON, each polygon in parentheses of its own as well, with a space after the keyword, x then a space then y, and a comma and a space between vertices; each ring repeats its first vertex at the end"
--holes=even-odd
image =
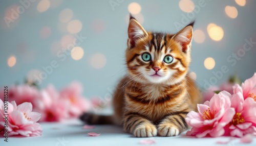
POLYGON ((171 124, 159 125, 157 131, 159 136, 177 136, 180 134, 179 129, 171 124))

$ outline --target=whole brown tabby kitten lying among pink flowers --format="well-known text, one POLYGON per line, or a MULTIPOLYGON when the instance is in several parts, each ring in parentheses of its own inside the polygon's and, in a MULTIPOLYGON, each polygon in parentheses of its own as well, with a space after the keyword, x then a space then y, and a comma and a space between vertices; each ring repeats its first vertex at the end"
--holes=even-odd
POLYGON ((177 136, 201 96, 187 75, 194 22, 176 34, 147 32, 130 16, 127 76, 114 93, 112 116, 84 113, 88 124, 117 124, 136 137, 177 136))

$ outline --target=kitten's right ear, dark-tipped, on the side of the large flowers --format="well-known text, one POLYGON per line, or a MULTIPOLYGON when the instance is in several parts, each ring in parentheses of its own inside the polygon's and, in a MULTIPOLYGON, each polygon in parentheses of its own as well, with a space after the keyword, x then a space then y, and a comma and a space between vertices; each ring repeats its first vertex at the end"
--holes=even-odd
POLYGON ((190 51, 191 41, 193 38, 193 26, 194 22, 191 22, 177 34, 175 34, 172 39, 179 42, 182 46, 182 52, 187 53, 190 51))

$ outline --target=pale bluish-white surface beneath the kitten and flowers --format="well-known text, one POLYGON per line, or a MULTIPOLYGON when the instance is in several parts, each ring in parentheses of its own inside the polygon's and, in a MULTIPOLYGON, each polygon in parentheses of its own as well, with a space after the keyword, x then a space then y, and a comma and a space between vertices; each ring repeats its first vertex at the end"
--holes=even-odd
POLYGON ((136 138, 131 134, 124 133, 121 127, 104 125, 97 126, 95 129, 82 129, 82 123, 77 120, 66 123, 41 123, 43 128, 42 136, 37 137, 9 137, 8 142, 0 138, 0 145, 144 145, 140 144, 142 139, 154 139, 152 145, 256 145, 256 138, 252 143, 239 143, 239 139, 234 139, 228 144, 217 144, 217 141, 228 141, 230 137, 218 138, 194 138, 185 136, 185 132, 176 137, 151 137, 136 138), (87 132, 101 133, 100 136, 88 136, 87 132))

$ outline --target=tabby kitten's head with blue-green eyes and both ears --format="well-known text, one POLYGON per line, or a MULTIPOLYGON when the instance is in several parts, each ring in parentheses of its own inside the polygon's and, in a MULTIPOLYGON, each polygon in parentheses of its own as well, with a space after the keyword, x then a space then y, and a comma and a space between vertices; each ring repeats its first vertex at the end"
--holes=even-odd
POLYGON ((176 34, 147 32, 130 17, 126 50, 129 75, 136 82, 175 84, 187 74, 193 23, 176 34))

